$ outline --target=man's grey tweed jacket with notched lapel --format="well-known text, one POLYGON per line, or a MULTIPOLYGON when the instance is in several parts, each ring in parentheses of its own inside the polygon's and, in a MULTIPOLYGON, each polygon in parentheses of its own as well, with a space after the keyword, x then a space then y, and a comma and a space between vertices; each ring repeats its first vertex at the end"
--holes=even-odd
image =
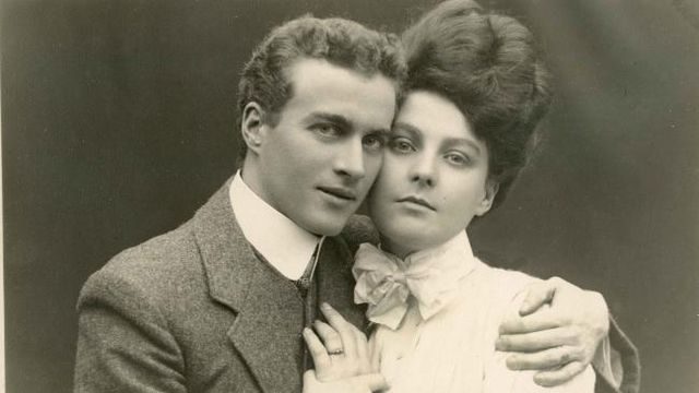
MULTIPOLYGON (((242 236, 229 182, 179 228, 126 250, 79 301, 75 392, 300 392, 304 301, 242 236)), ((318 302, 365 326, 353 254, 325 239, 318 302)))

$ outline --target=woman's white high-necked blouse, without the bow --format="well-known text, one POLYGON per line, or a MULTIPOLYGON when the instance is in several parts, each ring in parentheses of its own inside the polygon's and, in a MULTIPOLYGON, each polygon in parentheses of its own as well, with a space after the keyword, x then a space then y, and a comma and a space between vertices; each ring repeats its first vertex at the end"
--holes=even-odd
POLYGON ((534 383, 533 371, 509 370, 506 354, 495 350, 500 322, 518 312, 524 287, 537 278, 486 265, 473 255, 465 233, 439 248, 441 252, 420 251, 422 259, 463 258, 467 273, 455 296, 427 320, 411 296, 398 329, 377 324, 370 338, 375 366, 391 393, 594 392, 590 366, 564 385, 543 388, 534 383))

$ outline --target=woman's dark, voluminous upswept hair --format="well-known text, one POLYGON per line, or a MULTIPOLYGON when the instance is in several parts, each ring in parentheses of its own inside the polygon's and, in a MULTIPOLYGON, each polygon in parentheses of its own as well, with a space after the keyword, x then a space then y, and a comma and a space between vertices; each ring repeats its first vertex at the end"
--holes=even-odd
POLYGON ((499 205, 524 167, 536 124, 552 99, 548 72, 532 33, 517 20, 450 0, 403 34, 405 90, 452 102, 488 148, 488 178, 499 205))

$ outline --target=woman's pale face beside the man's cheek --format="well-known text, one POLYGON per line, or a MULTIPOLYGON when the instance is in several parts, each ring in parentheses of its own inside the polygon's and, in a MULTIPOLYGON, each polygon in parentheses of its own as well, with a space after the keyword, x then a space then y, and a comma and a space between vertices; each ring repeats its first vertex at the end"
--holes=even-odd
POLYGON ((496 192, 486 145, 464 115, 440 95, 411 92, 368 196, 383 246, 399 257, 439 246, 485 214, 496 192))

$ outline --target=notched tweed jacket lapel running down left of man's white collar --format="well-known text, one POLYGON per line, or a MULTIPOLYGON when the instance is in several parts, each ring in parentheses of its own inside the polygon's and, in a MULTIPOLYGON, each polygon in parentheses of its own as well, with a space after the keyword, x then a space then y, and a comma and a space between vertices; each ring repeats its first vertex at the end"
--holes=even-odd
POLYGON ((235 221, 229 184, 194 219, 210 296, 237 313, 228 337, 262 391, 300 391, 300 296, 256 257, 235 221))

